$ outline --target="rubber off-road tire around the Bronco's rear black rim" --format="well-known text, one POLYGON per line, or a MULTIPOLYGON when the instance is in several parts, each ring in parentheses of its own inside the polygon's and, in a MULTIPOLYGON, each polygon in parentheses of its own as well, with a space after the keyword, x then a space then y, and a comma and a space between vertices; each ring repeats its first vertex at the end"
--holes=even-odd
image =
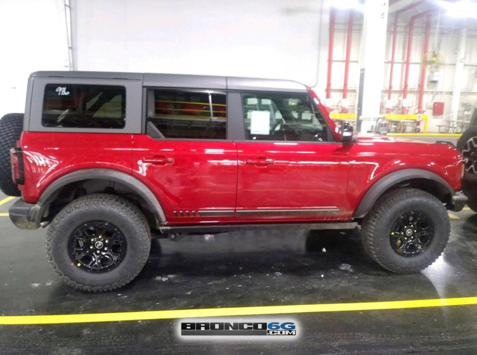
POLYGON ((46 254, 56 273, 66 284, 84 291, 109 291, 133 280, 144 267, 151 248, 151 232, 146 218, 122 197, 97 193, 66 205, 54 218, 46 239, 46 254), (68 252, 73 231, 83 223, 113 223, 126 240, 124 259, 115 268, 92 273, 77 267, 68 252))

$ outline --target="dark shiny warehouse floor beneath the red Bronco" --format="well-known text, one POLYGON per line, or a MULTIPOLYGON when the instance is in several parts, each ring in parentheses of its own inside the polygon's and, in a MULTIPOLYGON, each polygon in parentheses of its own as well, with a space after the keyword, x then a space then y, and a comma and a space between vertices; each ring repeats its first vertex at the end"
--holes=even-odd
MULTIPOLYGON (((0 213, 6 213, 13 202, 3 203, 0 213)), ((21 231, 8 216, 0 214, 0 314, 354 304, 476 296, 477 214, 464 210, 451 217, 452 234, 446 252, 421 274, 397 275, 383 270, 365 256, 358 230, 230 233, 208 242, 202 237, 161 240, 131 284, 114 292, 89 294, 63 284, 53 273, 44 251, 46 229, 21 231)), ((299 324, 300 339, 184 341, 176 335, 175 319, 0 325, 0 353, 477 351, 475 304, 256 317, 261 321, 292 319, 299 324)))

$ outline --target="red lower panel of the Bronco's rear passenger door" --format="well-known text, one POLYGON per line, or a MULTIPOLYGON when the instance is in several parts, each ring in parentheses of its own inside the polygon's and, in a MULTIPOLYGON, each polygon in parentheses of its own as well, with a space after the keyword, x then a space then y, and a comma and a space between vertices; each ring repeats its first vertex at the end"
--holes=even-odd
POLYGON ((234 142, 155 140, 143 134, 133 139, 133 175, 157 196, 168 223, 233 221, 237 194, 234 142), (199 211, 231 214, 199 216, 199 211))

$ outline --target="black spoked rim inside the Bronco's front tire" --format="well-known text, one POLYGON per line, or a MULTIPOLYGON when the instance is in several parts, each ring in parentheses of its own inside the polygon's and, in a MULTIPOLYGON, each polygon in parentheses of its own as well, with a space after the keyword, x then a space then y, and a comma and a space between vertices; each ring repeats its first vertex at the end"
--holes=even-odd
POLYGON ((421 211, 411 211, 397 218, 389 238, 397 254, 411 257, 423 253, 432 242, 433 235, 430 217, 421 211))

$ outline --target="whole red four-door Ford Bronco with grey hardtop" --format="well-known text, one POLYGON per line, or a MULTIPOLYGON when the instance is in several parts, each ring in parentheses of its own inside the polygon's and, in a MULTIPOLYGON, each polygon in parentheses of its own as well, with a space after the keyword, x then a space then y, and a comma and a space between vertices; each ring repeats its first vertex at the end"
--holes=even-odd
POLYGON ((50 263, 87 291, 134 279, 152 237, 297 223, 359 224, 376 262, 417 272, 467 199, 452 145, 358 137, 294 81, 35 72, 0 147, 0 187, 21 196, 11 221, 49 224, 50 263))

